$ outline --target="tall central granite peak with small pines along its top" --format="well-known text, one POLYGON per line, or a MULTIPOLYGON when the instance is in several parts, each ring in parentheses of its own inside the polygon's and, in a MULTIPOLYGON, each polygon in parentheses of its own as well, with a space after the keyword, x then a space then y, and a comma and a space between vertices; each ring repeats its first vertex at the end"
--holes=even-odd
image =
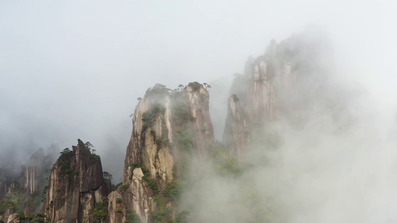
POLYGON ((173 218, 176 209, 165 190, 185 177, 190 154, 204 156, 214 143, 208 91, 197 82, 170 90, 156 84, 138 103, 123 185, 118 188, 127 208, 135 210, 143 223, 173 218))

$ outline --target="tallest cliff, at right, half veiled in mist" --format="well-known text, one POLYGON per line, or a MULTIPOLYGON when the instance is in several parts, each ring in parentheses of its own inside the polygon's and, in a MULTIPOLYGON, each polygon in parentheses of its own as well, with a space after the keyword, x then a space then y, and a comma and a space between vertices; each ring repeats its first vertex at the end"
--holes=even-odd
POLYGON ((329 62, 329 52, 326 39, 321 36, 308 38, 307 33, 301 33, 279 44, 271 40, 264 54, 247 59, 244 74, 235 74, 229 92, 240 98, 243 107, 246 105, 245 112, 239 112, 240 106, 236 107, 229 99, 223 137, 235 156, 240 157, 238 151, 249 146, 247 140, 242 143, 247 133, 238 129, 245 129, 248 135, 250 132, 258 134, 281 116, 302 123, 308 118, 303 111, 326 90, 330 69, 324 64, 329 62), (249 113, 249 121, 236 121, 239 118, 235 115, 241 113, 249 113))

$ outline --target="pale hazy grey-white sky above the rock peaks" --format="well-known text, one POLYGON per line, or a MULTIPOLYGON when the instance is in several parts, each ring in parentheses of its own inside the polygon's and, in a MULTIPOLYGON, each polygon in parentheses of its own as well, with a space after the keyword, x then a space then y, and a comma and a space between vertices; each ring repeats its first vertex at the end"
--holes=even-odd
POLYGON ((77 138, 104 149, 110 137, 118 145, 108 149, 124 156, 129 115, 148 87, 242 73, 247 56, 310 23, 328 29, 340 69, 382 98, 395 86, 395 8, 395 0, 2 0, 0 151, 77 138))

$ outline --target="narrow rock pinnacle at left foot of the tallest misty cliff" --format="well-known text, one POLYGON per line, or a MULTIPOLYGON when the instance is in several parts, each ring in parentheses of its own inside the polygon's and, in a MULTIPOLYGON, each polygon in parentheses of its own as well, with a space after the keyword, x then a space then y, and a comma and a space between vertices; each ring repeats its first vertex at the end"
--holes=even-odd
POLYGON ((249 114, 245 105, 233 94, 229 98, 223 142, 231 155, 243 158, 249 141, 249 114))

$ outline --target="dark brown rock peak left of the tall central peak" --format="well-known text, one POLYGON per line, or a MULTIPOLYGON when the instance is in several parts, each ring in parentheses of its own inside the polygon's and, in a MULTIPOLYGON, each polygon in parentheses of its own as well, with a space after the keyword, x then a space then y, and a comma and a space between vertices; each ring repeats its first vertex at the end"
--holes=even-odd
POLYGON ((78 139, 73 151, 66 151, 54 164, 42 213, 51 223, 93 222, 89 210, 107 197, 99 156, 91 154, 78 139))

